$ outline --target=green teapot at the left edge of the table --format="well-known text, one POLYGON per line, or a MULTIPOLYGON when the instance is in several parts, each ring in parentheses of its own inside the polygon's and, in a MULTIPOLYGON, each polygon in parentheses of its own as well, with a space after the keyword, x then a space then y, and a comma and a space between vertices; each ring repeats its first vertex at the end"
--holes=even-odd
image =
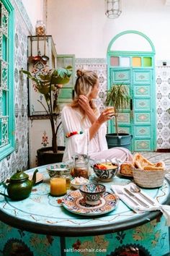
POLYGON ((32 186, 36 182, 37 169, 35 170, 32 180, 29 179, 28 174, 24 171, 18 170, 16 174, 12 175, 8 180, 7 192, 12 200, 23 200, 29 197, 32 186))

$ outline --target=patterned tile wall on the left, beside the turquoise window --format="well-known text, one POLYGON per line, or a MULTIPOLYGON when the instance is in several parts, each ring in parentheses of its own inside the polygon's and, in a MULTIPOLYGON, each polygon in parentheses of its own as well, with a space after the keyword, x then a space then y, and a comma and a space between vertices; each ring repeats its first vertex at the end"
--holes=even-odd
POLYGON ((14 174, 17 169, 28 166, 28 118, 27 80, 22 79, 19 70, 27 69, 27 35, 32 31, 27 14, 19 0, 12 0, 15 12, 14 27, 14 107, 15 107, 15 150, 0 162, 0 181, 14 174), (23 18, 24 17, 24 18, 23 18), (27 24, 27 26, 26 26, 27 24))

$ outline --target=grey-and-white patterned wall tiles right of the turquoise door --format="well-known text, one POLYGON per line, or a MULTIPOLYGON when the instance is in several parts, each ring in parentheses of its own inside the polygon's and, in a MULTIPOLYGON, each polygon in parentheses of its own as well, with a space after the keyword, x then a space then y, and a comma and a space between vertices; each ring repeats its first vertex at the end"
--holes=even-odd
POLYGON ((156 67, 157 148, 170 148, 170 66, 156 67))

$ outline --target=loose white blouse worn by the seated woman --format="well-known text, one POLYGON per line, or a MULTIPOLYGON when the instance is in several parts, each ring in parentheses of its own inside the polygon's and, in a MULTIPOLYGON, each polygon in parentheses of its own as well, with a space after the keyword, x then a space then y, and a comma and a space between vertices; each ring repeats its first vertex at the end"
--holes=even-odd
POLYGON ((76 153, 91 155, 91 153, 107 150, 105 137, 107 132, 106 124, 102 124, 97 134, 89 140, 91 122, 88 117, 83 119, 79 108, 64 106, 61 112, 61 121, 63 132, 65 135, 68 135, 68 138, 66 138, 66 150, 63 155, 63 161, 70 160, 71 156, 76 153), (71 132, 76 133, 76 135, 71 135, 71 132))

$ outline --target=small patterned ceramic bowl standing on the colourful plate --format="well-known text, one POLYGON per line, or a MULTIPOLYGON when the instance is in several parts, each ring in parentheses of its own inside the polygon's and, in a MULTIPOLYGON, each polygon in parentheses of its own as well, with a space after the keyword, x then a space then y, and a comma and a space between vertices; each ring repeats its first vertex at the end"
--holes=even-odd
POLYGON ((106 191, 106 187, 103 184, 90 183, 90 184, 86 184, 86 185, 81 185, 79 190, 87 204, 99 205, 100 198, 106 191))

